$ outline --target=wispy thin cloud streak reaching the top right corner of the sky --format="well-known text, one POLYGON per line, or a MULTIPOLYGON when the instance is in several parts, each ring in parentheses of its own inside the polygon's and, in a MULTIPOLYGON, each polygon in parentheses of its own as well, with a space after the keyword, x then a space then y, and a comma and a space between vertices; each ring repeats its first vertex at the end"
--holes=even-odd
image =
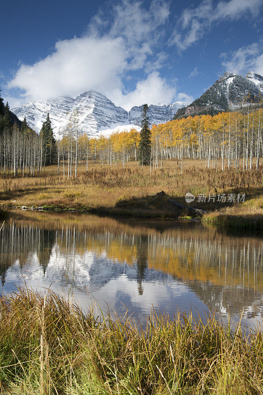
POLYGON ((212 0, 203 0, 196 8, 186 8, 182 12, 170 44, 176 44, 180 50, 184 50, 199 40, 213 23, 243 16, 255 18, 262 5, 263 0, 229 0, 219 1, 214 7, 212 0))

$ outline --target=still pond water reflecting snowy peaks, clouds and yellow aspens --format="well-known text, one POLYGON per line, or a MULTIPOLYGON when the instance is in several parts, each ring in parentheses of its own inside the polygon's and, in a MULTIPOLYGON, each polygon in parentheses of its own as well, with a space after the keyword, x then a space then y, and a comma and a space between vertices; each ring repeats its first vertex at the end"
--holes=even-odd
POLYGON ((1 292, 51 288, 141 323, 151 308, 263 324, 263 238, 194 221, 13 211, 0 233, 1 292), (197 309, 197 310, 196 310, 197 309))

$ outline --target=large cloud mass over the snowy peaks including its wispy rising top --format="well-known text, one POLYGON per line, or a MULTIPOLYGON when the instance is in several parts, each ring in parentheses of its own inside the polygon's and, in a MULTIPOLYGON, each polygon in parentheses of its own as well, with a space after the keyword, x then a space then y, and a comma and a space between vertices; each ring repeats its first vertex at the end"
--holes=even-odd
POLYGON ((146 9, 141 1, 123 0, 112 6, 110 15, 100 11, 82 37, 57 41, 49 56, 33 65, 21 64, 9 88, 22 89, 24 101, 75 97, 94 89, 127 109, 164 98, 168 102, 175 88, 155 72, 166 59, 162 52, 156 56, 155 49, 169 4, 154 0, 146 9), (146 73, 145 79, 125 94, 124 77, 139 69, 146 73))

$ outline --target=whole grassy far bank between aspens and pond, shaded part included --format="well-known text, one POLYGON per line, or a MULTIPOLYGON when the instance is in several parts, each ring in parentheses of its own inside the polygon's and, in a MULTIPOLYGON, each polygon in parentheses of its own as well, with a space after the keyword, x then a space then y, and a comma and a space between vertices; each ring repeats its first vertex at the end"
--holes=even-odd
POLYGON ((184 217, 221 229, 262 231, 261 168, 218 172, 206 168, 203 160, 185 159, 182 171, 176 161, 167 159, 162 169, 151 170, 131 161, 125 168, 121 163, 90 163, 88 172, 81 165, 75 179, 58 175, 56 166, 35 177, 6 175, 0 178, 0 207, 142 219, 184 217), (194 199, 186 202, 187 194, 194 199), (237 199, 240 194, 244 202, 237 199))

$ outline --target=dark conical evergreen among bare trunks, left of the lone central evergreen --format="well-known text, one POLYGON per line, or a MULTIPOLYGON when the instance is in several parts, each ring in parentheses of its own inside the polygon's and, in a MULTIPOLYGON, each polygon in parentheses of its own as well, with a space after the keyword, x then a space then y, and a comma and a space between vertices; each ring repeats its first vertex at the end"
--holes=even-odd
POLYGON ((43 122, 40 137, 42 139, 42 164, 44 166, 55 164, 57 161, 57 147, 49 113, 47 113, 46 120, 43 122))

